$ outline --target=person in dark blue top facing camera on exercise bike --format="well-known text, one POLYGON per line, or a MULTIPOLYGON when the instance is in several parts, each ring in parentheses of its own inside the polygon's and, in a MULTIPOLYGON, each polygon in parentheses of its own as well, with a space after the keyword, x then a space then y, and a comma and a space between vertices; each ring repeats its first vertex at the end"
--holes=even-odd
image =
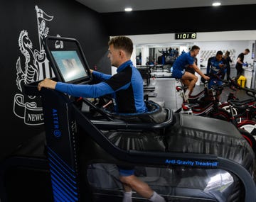
MULTIPOLYGON (((210 76, 208 83, 208 89, 211 89, 213 85, 221 86, 223 84, 223 73, 226 71, 226 62, 223 58, 223 52, 218 51, 215 56, 208 59, 206 74, 210 76)), ((218 95, 220 100, 220 94, 218 95)))

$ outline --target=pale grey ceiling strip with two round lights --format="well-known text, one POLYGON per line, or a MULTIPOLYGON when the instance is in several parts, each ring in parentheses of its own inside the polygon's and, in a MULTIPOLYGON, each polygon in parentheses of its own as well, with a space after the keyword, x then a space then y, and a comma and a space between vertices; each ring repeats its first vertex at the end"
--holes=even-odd
POLYGON ((132 7, 133 11, 156 9, 178 9, 211 6, 220 1, 222 6, 256 4, 256 0, 75 0, 97 11, 98 13, 123 12, 124 8, 132 7))

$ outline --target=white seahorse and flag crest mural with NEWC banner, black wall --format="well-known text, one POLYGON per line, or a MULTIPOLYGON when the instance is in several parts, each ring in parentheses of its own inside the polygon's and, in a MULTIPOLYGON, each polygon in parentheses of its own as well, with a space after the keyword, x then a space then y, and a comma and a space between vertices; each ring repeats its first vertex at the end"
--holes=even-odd
MULTIPOLYGON (((16 86, 19 92, 14 95, 14 114, 18 118, 22 118, 26 125, 42 125, 43 108, 40 97, 23 94, 23 86, 54 76, 42 45, 43 38, 46 38, 50 31, 46 22, 53 21, 53 16, 49 16, 38 6, 35 6, 35 9, 40 50, 33 50, 33 43, 27 30, 22 30, 18 38, 18 46, 22 56, 18 57, 16 62, 16 86)), ((57 36, 60 37, 60 35, 57 36)), ((63 48, 63 42, 58 41, 55 47, 63 48)))

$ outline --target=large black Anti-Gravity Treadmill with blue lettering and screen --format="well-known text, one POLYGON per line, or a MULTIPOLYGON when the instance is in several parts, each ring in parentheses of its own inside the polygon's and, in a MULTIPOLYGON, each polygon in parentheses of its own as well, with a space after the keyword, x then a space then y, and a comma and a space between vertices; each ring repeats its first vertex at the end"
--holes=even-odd
MULTIPOLYGON (((92 83, 78 40, 48 36, 44 47, 55 81, 92 83)), ((122 201, 117 164, 134 165, 168 201, 256 201, 255 154, 231 123, 152 101, 148 113, 116 114, 37 84, 26 94, 42 99, 53 201, 122 201)))

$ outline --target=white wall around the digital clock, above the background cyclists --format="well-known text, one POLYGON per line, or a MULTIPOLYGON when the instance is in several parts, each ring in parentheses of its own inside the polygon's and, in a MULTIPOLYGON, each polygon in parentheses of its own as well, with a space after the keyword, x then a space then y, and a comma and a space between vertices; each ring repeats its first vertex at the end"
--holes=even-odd
MULTIPOLYGON (((129 35, 128 37, 132 39, 134 45, 144 47, 153 47, 154 45, 183 45, 187 47, 188 45, 198 45, 199 47, 201 47, 201 50, 234 49, 235 59, 236 57, 238 57, 240 52, 243 52, 245 50, 245 48, 249 48, 250 54, 245 56, 245 62, 252 64, 252 43, 255 43, 256 40, 256 30, 197 33, 196 39, 193 40, 175 40, 174 33, 157 35, 129 35)), ((135 50, 136 49, 134 49, 134 51, 135 50)), ((148 49, 145 48, 144 50, 148 49)), ((146 53, 144 53, 144 55, 146 55, 146 53)), ((200 58, 200 53, 198 57, 200 58)), ((146 59, 144 58, 144 60, 146 59)), ((136 64, 136 57, 132 57, 132 62, 136 64)), ((200 67, 200 61, 198 66, 200 67)))

